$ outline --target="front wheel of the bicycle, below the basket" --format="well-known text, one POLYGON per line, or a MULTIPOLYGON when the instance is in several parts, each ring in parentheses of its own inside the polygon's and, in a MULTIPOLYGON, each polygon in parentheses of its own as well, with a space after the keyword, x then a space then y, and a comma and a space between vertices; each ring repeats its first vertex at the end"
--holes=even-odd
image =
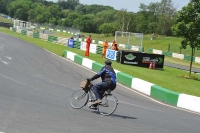
POLYGON ((89 94, 84 90, 75 91, 70 97, 70 104, 74 109, 80 109, 87 104, 89 94))

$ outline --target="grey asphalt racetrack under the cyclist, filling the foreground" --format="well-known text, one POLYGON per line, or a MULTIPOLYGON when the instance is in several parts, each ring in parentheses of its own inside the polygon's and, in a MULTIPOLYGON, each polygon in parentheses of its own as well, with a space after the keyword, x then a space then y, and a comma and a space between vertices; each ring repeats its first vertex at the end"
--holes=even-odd
POLYGON ((199 133, 199 114, 160 104, 119 84, 112 92, 119 100, 112 116, 87 107, 72 109, 71 94, 94 74, 0 33, 0 132, 199 133))

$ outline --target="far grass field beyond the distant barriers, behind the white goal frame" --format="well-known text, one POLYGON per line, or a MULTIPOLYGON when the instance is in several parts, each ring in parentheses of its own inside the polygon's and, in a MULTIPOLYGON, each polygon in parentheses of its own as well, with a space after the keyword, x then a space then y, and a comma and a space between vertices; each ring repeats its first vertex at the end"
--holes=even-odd
MULTIPOLYGON (((93 40, 98 40, 98 41, 104 41, 108 40, 109 42, 112 42, 115 37, 110 36, 110 37, 105 37, 103 34, 93 34, 93 33, 81 33, 81 35, 85 35, 87 37, 88 35, 92 35, 93 40)), ((63 32, 55 32, 55 36, 61 36, 61 37, 71 37, 71 34, 68 33, 63 33, 63 32)), ((186 49, 181 49, 181 40, 182 38, 177 38, 177 37, 165 37, 165 36, 157 36, 156 39, 150 40, 151 35, 144 35, 143 39, 143 47, 144 51, 148 52, 149 48, 157 49, 157 50, 162 50, 162 51, 169 51, 172 53, 179 53, 179 54, 186 54, 186 55, 191 55, 191 48, 190 46, 187 46, 186 49), (169 46, 170 44, 170 46, 169 46)), ((135 38, 130 39, 131 42, 134 42, 135 38)), ((138 40, 136 40, 138 42, 138 40)), ((128 44, 127 37, 124 37, 124 40, 121 40, 120 42, 124 44, 128 44)), ((130 42, 130 43, 131 43, 130 42)), ((200 50, 195 51, 195 56, 200 57, 200 50)))

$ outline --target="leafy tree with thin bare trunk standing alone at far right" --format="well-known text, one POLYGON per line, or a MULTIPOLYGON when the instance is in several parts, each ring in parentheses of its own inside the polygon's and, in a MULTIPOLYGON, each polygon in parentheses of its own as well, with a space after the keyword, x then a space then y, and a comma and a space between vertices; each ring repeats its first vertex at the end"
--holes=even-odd
POLYGON ((191 51, 190 71, 191 77, 192 62, 194 50, 200 47, 200 1, 191 0, 187 6, 175 16, 176 23, 173 25, 173 34, 178 37, 183 37, 181 45, 184 49, 189 45, 191 51))

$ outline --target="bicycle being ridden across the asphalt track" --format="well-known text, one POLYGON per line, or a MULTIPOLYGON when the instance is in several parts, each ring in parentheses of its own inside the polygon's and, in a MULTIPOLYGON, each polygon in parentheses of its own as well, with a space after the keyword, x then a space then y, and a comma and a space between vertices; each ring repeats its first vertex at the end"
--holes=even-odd
POLYGON ((71 107, 74 109, 81 109, 82 107, 88 105, 89 108, 96 108, 98 113, 101 115, 107 116, 113 114, 119 104, 118 99, 111 94, 111 90, 108 89, 103 92, 102 102, 93 106, 91 103, 95 101, 95 95, 91 89, 92 86, 94 86, 94 84, 90 82, 89 88, 76 90, 70 97, 71 107))

